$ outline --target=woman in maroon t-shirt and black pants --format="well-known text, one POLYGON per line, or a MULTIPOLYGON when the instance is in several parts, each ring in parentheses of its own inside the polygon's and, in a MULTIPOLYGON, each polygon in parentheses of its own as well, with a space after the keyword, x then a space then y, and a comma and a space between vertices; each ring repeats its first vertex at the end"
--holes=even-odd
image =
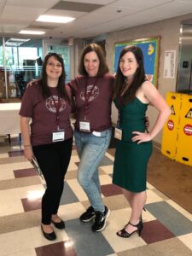
POLYGON ((42 198, 41 229, 48 240, 56 238, 51 222, 57 229, 65 228, 57 215, 73 146, 71 96, 70 89, 64 86, 65 78, 61 56, 46 55, 42 78, 26 88, 20 108, 25 156, 30 161, 36 158, 47 185, 42 198))

